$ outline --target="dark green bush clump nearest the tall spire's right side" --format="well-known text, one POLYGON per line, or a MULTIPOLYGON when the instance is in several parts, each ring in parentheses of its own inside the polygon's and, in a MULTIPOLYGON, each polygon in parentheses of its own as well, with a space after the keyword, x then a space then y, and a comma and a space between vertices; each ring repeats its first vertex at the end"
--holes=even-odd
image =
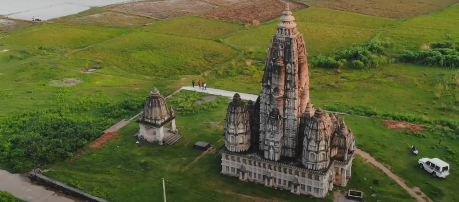
POLYGON ((357 47, 342 49, 334 57, 319 55, 312 57, 309 63, 312 67, 337 69, 350 66, 354 69, 372 69, 387 63, 384 48, 389 44, 380 41, 370 41, 357 47))

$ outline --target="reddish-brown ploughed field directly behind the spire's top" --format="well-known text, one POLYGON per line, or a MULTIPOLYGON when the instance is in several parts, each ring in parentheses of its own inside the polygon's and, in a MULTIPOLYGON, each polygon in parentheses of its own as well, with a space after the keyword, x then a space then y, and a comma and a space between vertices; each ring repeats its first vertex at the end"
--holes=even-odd
POLYGON ((203 12, 201 16, 233 22, 252 23, 257 20, 263 23, 282 16, 287 3, 292 12, 308 8, 308 5, 290 0, 246 0, 203 12))

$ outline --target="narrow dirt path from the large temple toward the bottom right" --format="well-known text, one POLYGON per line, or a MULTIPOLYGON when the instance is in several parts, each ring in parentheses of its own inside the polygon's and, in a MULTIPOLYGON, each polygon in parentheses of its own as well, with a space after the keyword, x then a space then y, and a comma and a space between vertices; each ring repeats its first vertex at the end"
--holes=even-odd
POLYGON ((379 169, 381 169, 384 173, 386 173, 387 176, 389 176, 390 178, 392 178, 393 180, 395 180, 397 182, 398 185, 400 185, 401 187, 403 187, 403 189, 405 189, 406 191, 408 191, 408 193, 414 197, 418 202, 433 202, 429 197, 427 197, 420 189, 419 187, 414 187, 413 189, 409 188, 404 182, 403 180, 398 177, 397 175, 393 174, 391 170, 387 169, 383 164, 379 163, 378 161, 376 161, 375 158, 371 157, 371 155, 369 153, 366 153, 360 149, 358 149, 357 147, 354 147, 354 150, 356 153, 358 153, 360 156, 362 156, 363 158, 365 158, 365 160, 367 160, 369 163, 375 165, 376 167, 378 167, 379 169), (417 194, 416 192, 420 193, 417 194))

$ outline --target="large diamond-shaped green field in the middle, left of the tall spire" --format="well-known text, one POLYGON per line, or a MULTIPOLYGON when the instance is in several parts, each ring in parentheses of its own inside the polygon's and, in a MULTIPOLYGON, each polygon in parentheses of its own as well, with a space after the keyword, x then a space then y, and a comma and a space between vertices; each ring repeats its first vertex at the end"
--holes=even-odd
POLYGON ((199 75, 236 55, 234 49, 215 41, 151 32, 129 33, 73 54, 110 61, 126 72, 173 79, 178 75, 199 75))

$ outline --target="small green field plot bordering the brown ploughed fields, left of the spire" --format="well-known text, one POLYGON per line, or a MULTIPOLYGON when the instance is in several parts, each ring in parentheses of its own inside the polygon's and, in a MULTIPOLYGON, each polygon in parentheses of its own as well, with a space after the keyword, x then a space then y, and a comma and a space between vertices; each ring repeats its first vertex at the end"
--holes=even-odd
POLYGON ((243 28, 244 25, 239 23, 183 16, 158 21, 144 30, 197 38, 221 38, 243 28))

